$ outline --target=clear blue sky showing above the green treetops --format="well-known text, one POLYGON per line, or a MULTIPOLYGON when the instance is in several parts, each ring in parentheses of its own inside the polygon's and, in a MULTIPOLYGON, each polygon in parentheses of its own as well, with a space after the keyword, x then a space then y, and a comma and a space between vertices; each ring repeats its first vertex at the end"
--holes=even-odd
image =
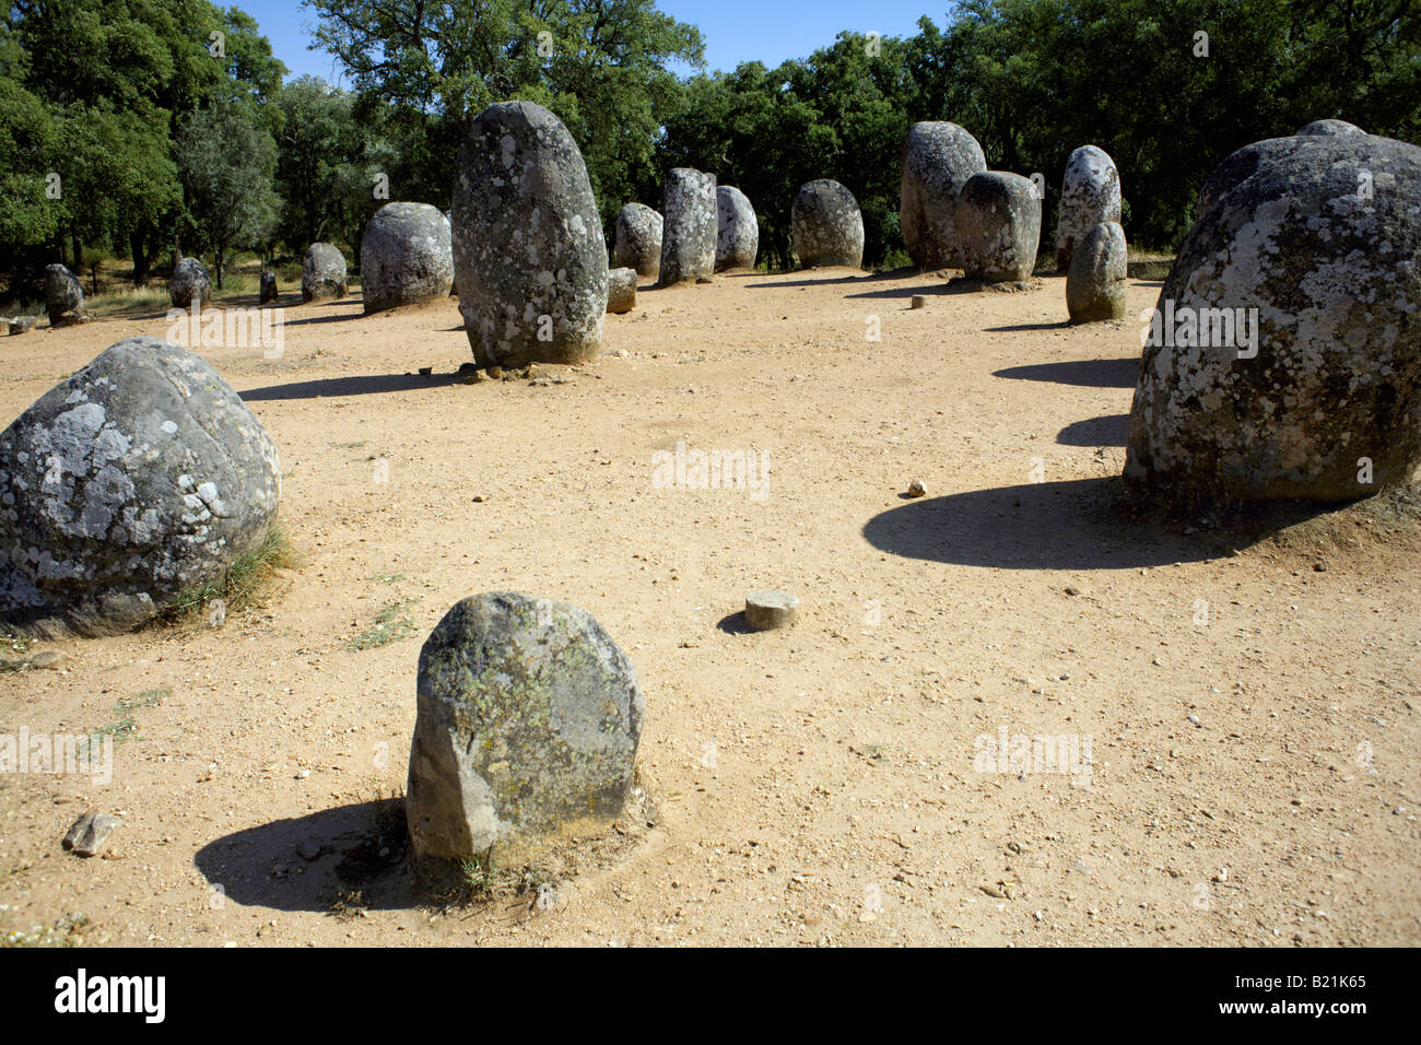
MULTIPOLYGON (((223 3, 223 0, 219 0, 223 3)), ((291 75, 335 80, 324 51, 308 51, 315 14, 298 0, 226 0, 252 14, 291 75)), ((841 30, 909 36, 926 14, 942 26, 951 0, 658 0, 657 6, 701 28, 706 68, 733 70, 742 61, 777 65, 834 43, 841 30)), ((678 70, 685 71, 685 70, 678 70)))

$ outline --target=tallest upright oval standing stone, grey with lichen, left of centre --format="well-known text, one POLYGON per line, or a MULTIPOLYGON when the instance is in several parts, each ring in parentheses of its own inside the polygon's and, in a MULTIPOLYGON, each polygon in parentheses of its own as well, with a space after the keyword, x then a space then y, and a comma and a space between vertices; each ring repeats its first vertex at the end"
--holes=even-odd
POLYGON ((480 367, 580 363, 607 313, 607 242, 583 154, 530 101, 469 127, 453 186, 459 311, 480 367))

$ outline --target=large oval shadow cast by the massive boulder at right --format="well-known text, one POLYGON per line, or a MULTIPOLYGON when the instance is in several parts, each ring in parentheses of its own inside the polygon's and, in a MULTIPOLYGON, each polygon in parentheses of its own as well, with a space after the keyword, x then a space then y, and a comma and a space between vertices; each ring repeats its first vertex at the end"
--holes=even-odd
POLYGON ((1005 570, 1121 570, 1228 554, 1222 535, 1188 537, 1124 518, 1118 476, 968 491, 890 508, 864 526, 907 559, 1005 570))

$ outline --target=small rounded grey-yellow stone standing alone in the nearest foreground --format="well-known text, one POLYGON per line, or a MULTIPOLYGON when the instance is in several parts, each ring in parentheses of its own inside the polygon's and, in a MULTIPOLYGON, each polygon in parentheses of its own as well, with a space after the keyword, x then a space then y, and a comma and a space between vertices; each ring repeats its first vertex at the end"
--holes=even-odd
POLYGON ((421 650, 416 692, 405 810, 418 857, 462 860, 621 815, 645 704, 585 610, 517 591, 465 599, 421 650))

